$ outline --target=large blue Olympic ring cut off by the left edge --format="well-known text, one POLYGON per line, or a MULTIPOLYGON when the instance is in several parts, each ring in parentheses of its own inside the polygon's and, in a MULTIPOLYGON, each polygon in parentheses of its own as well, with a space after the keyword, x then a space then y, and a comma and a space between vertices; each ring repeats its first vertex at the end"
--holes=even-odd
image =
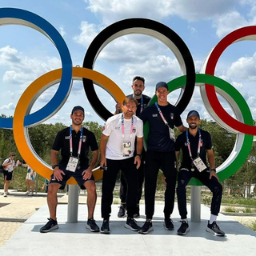
MULTIPOLYGON (((54 94, 54 97, 46 106, 43 106, 42 109, 33 114, 26 115, 25 117, 24 126, 35 126, 39 122, 45 121, 50 114, 55 114, 63 105, 62 102, 65 102, 70 94, 72 82, 72 60, 70 51, 61 34, 58 33, 58 30, 37 14, 15 8, 0 8, 0 26, 10 24, 30 26, 46 35, 56 46, 62 60, 62 78, 56 94, 54 94)), ((13 118, 0 118, 0 127, 12 129, 13 118)))

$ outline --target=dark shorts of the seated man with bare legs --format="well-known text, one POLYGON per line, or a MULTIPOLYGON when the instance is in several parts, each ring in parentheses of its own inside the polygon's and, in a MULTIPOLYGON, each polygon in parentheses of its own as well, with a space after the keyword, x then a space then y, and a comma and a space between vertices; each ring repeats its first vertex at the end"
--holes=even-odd
POLYGON ((87 178, 86 180, 84 180, 82 178, 82 172, 84 170, 86 170, 88 168, 88 166, 86 168, 81 168, 81 170, 76 170, 75 172, 70 171, 70 170, 63 170, 64 168, 62 168, 62 166, 60 166, 60 169, 64 171, 64 173, 66 175, 62 175, 62 181, 58 181, 57 179, 54 180, 54 174, 52 174, 50 176, 50 183, 58 183, 61 184, 62 186, 60 187, 60 190, 64 190, 65 186, 66 186, 66 182, 71 178, 74 177, 74 179, 76 180, 76 182, 78 182, 78 185, 80 186, 80 188, 82 190, 86 190, 86 187, 83 185, 86 181, 94 181, 94 175, 91 175, 90 178, 87 178))

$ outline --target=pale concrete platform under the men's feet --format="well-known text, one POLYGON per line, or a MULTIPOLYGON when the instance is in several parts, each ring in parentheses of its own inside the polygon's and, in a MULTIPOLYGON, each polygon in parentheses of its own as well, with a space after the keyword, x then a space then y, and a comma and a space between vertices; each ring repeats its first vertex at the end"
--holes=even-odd
MULTIPOLYGON (((144 213, 144 207, 141 206, 141 213, 144 213)), ((255 255, 256 232, 222 214, 218 216, 218 224, 226 232, 226 237, 206 232, 210 216, 210 209, 206 206, 201 206, 202 222, 190 222, 190 232, 186 236, 176 234, 180 226, 177 205, 172 216, 174 231, 164 229, 162 210, 162 205, 155 206, 154 231, 143 235, 126 229, 126 218, 118 218, 118 205, 113 205, 110 234, 100 234, 91 233, 85 227, 86 205, 79 205, 77 223, 67 223, 67 205, 59 205, 58 230, 41 234, 39 229, 49 218, 47 206, 42 206, 2 246, 0 255, 255 255)), ((94 218, 101 226, 100 205, 96 205, 94 218)), ((142 215, 138 225, 142 226, 144 220, 142 215)))

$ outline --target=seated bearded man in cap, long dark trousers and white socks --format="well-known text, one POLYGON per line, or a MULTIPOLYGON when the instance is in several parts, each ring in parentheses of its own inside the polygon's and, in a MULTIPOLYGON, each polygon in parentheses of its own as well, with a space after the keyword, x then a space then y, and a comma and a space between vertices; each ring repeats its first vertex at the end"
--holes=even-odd
POLYGON ((185 235, 190 231, 187 222, 186 185, 194 177, 198 178, 213 193, 210 206, 210 220, 206 231, 218 236, 224 236, 225 233, 220 230, 216 223, 222 202, 222 185, 218 181, 214 167, 214 152, 212 150, 210 134, 198 128, 200 124, 198 111, 191 110, 187 114, 186 122, 189 125, 189 130, 178 135, 175 142, 176 156, 178 156, 178 152, 182 149, 182 164, 178 172, 177 188, 178 210, 182 218, 182 225, 178 229, 177 234, 185 235), (210 168, 207 166, 206 154, 210 168))

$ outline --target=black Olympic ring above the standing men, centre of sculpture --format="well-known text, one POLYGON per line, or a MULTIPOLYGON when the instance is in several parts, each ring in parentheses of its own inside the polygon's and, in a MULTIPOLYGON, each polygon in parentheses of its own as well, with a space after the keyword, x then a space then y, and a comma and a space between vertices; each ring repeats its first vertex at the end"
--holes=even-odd
MULTIPOLYGON (((170 27, 163 25, 162 23, 155 22, 146 18, 128 18, 114 24, 107 26, 102 30, 93 42, 90 43, 88 50, 83 61, 83 67, 88 69, 94 68, 94 62, 98 57, 101 50, 115 38, 118 38, 126 34, 147 34, 154 38, 158 38, 161 42, 168 46, 168 42, 172 46, 177 48, 177 52, 173 51, 174 55, 178 59, 178 62, 184 63, 186 69, 186 86, 182 87, 181 94, 178 97, 178 101, 175 106, 178 107, 180 114, 186 109, 192 98, 195 85, 195 70, 193 58, 190 54, 190 50, 187 48, 182 38, 171 30, 170 27)), ((82 78, 84 90, 90 105, 94 111, 104 120, 110 118, 113 114, 102 105, 95 90, 94 83, 90 79, 82 78)))

